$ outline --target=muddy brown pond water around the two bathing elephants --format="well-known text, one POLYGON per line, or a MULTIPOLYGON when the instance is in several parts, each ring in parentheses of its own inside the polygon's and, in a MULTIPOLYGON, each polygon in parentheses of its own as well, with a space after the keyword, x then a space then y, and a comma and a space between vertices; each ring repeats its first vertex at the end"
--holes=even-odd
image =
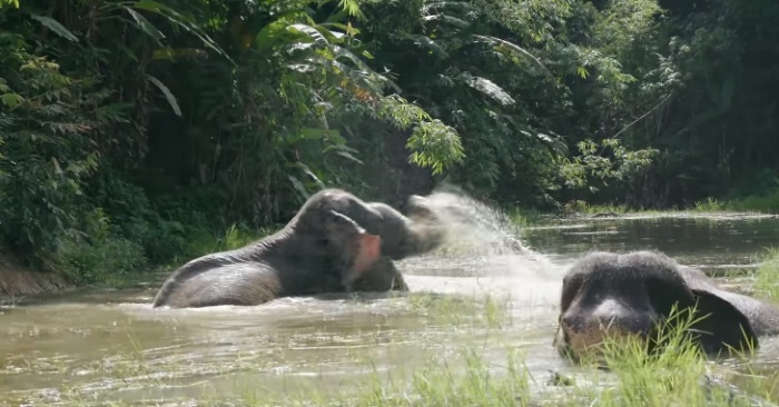
MULTIPOLYGON (((516 347, 544 381, 549 370, 573 369, 551 341, 560 278, 579 255, 652 248, 710 270, 749 267, 763 247, 779 246, 779 220, 593 219, 525 229, 522 241, 536 255, 495 245, 474 249, 474 241, 496 240, 479 228, 453 237, 470 249, 398 264, 412 290, 434 294, 427 299, 285 298, 260 307, 152 310, 159 281, 150 281, 0 309, 0 405, 178 405, 323 394, 367 383, 376 371, 407 375, 463 347, 495 355, 516 347), (502 340, 487 341, 494 328, 485 312, 447 301, 455 294, 509 295, 512 324, 497 328, 502 340)), ((757 358, 779 359, 777 341, 763 341, 757 358)))

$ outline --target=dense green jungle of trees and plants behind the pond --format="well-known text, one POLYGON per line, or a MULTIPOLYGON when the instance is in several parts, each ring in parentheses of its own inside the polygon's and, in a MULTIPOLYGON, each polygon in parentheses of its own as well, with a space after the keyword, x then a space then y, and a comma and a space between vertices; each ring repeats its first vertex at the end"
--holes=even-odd
POLYGON ((777 21, 775 0, 0 0, 1 250, 90 282, 323 186, 779 196, 777 21))

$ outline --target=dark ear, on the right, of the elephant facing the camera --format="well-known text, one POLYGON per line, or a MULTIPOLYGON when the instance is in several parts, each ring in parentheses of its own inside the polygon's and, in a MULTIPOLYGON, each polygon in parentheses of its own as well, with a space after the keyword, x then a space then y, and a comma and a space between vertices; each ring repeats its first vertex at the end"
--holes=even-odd
POLYGON ((704 289, 692 289, 698 301, 696 319, 692 326, 707 354, 720 351, 750 351, 757 349, 758 337, 749 318, 736 306, 704 289), (702 319, 701 319, 702 318, 702 319))

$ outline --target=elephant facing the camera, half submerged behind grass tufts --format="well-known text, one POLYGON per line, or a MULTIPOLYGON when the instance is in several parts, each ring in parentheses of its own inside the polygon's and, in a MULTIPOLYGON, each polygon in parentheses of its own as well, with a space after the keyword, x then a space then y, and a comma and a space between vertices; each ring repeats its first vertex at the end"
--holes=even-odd
POLYGON ((679 324, 669 319, 674 306, 696 311, 688 334, 708 356, 753 350, 758 337, 779 334, 777 307, 726 291, 698 268, 652 250, 592 251, 563 277, 553 346, 572 361, 596 354, 605 337, 631 335, 651 350, 660 324, 679 324))

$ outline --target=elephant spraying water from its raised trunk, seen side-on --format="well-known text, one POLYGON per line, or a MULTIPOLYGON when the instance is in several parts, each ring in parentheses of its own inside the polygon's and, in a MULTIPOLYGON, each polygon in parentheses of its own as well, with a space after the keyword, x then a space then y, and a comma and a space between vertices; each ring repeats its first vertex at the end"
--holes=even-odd
POLYGON ((400 275, 393 259, 424 254, 443 241, 425 198, 412 196, 408 202, 411 218, 343 189, 323 189, 279 231, 175 270, 152 307, 256 306, 279 297, 371 288, 376 280, 389 288, 393 275, 400 275))

